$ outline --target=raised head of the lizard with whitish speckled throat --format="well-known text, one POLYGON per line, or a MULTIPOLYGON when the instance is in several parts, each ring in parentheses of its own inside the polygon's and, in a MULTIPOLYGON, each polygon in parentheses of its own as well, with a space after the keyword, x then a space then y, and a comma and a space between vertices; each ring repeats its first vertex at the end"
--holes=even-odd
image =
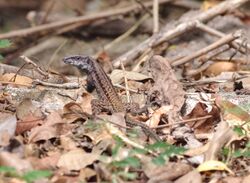
POLYGON ((80 70, 83 70, 85 72, 91 72, 92 71, 92 64, 93 64, 93 59, 89 56, 84 56, 84 55, 73 55, 73 56, 68 56, 63 59, 65 64, 70 64, 75 67, 77 67, 80 70))

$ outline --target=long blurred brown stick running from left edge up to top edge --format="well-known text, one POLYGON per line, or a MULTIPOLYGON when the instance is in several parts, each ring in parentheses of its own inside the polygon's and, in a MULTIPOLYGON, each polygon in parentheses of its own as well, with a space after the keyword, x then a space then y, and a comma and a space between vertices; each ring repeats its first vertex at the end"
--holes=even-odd
MULTIPOLYGON (((161 4, 168 3, 170 1, 171 0, 159 0, 159 3, 161 3, 161 4)), ((145 5, 145 7, 151 7, 152 4, 153 3, 150 1, 150 2, 145 3, 144 5, 145 5)), ((22 30, 16 30, 16 31, 10 31, 7 33, 3 33, 3 34, 0 34, 0 39, 27 37, 27 36, 30 36, 31 34, 35 34, 35 33, 41 33, 41 34, 45 35, 48 33, 52 33, 54 30, 59 30, 65 26, 77 24, 77 26, 71 27, 71 28, 75 29, 77 27, 92 23, 93 21, 108 18, 111 16, 127 14, 127 13, 131 13, 131 11, 138 11, 138 10, 139 10, 139 7, 137 5, 132 5, 132 6, 119 8, 119 9, 115 9, 115 10, 112 9, 109 11, 96 13, 96 14, 92 14, 92 15, 69 18, 67 20, 61 20, 61 21, 57 21, 57 22, 39 25, 36 27, 31 27, 31 28, 26 28, 26 29, 22 29, 22 30)), ((69 29, 67 29, 67 31, 69 31, 69 29)))

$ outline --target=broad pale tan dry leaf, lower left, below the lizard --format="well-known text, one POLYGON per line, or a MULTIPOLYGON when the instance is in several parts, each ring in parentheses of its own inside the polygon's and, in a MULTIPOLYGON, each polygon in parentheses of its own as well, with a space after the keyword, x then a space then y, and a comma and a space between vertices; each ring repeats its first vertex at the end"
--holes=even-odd
POLYGON ((82 149, 76 149, 63 154, 57 166, 68 170, 80 170, 93 164, 98 158, 98 154, 86 153, 82 149))

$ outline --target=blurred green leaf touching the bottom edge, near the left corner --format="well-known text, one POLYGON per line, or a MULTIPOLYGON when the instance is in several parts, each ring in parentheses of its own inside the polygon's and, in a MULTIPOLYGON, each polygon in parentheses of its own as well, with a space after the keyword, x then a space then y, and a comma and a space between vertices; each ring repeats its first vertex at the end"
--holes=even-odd
POLYGON ((41 178, 50 177, 51 175, 52 175, 52 172, 48 170, 34 170, 34 171, 26 172, 22 176, 22 178, 28 183, 30 183, 41 178))

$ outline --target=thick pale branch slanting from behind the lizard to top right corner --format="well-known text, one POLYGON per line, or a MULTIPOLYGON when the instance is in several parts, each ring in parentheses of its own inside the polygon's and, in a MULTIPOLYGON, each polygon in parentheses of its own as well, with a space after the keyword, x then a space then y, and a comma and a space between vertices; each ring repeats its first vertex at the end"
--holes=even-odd
POLYGON ((151 36, 135 48, 131 49, 127 53, 121 55, 117 59, 113 61, 114 67, 120 67, 120 63, 123 62, 124 66, 128 65, 128 63, 132 60, 135 60, 144 50, 162 44, 163 42, 169 41, 183 33, 186 33, 189 30, 192 30, 196 27, 197 22, 207 22, 208 20, 214 18, 217 15, 223 14, 226 11, 231 9, 238 8, 243 3, 248 2, 249 0, 228 0, 224 1, 213 8, 208 9, 205 12, 200 13, 196 17, 192 17, 189 20, 185 20, 185 22, 180 22, 176 24, 174 29, 169 30, 169 25, 167 24, 164 28, 162 28, 159 33, 151 36))

